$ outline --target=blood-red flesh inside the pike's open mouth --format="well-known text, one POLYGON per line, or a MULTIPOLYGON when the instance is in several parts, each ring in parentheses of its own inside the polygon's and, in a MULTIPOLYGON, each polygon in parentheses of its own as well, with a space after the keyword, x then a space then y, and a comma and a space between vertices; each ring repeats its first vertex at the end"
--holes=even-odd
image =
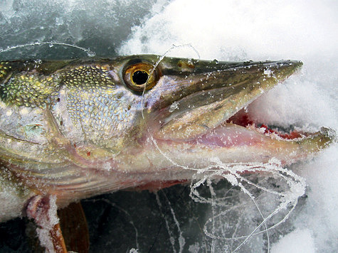
MULTIPOLYGON (((253 119, 250 118, 250 115, 248 112, 245 112, 244 109, 241 109, 239 112, 234 114, 232 117, 230 117, 226 123, 233 123, 239 126, 253 126, 255 122, 253 122, 253 119)), ((259 129, 265 129, 264 134, 277 134, 282 139, 297 139, 302 138, 304 136, 307 136, 305 133, 301 133, 300 131, 290 131, 290 133, 282 133, 274 129, 270 129, 268 125, 266 124, 258 124, 260 125, 259 129)), ((257 127, 257 126, 255 126, 257 127)))

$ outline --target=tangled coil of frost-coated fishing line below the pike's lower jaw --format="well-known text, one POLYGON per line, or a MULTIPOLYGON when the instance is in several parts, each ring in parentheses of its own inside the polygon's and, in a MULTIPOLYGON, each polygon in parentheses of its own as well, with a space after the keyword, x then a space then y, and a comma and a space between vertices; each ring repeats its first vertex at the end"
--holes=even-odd
MULTIPOLYGON (((245 165, 241 164, 241 166, 243 167, 245 165)), ((244 241, 241 242, 241 244, 239 244, 238 247, 236 247, 236 249, 233 251, 233 252, 238 252, 238 250, 241 249, 241 247, 243 247, 243 245, 246 242, 248 242, 248 240, 251 237, 265 232, 267 234, 267 240, 268 240, 267 243, 268 243, 268 252, 269 252, 270 251, 270 237, 268 235, 268 231, 272 230, 273 228, 282 224, 282 222, 285 222, 285 220, 287 220, 287 218, 290 216, 290 213, 293 210, 295 210, 295 207, 297 205, 297 199, 305 193, 306 184, 305 184, 304 178, 297 176, 292 171, 289 171, 285 168, 282 168, 279 163, 265 163, 265 164, 263 163, 260 166, 257 166, 257 164, 255 164, 255 166, 251 166, 251 168, 250 168, 250 166, 245 166, 245 169, 248 170, 248 171, 257 171, 257 172, 259 171, 259 172, 264 172, 264 173, 272 173, 273 175, 270 176, 271 178, 276 178, 276 179, 282 178, 285 181, 285 183, 289 186, 289 190, 286 190, 285 194, 282 194, 282 193, 275 192, 274 190, 270 190, 268 188, 265 188, 263 186, 257 185, 253 182, 250 182, 246 178, 243 178, 243 176, 240 176, 238 173, 231 172, 233 169, 231 169, 231 168, 229 169, 229 168, 226 168, 226 167, 228 167, 228 166, 223 166, 223 169, 225 170, 223 172, 227 171, 228 173, 231 173, 231 175, 237 179, 237 184, 235 182, 233 182, 233 180, 231 180, 231 178, 229 178, 229 176, 228 176, 229 174, 222 175, 220 173, 222 171, 220 171, 219 169, 213 170, 212 175, 205 176, 204 178, 201 178, 199 181, 197 181, 195 183, 193 181, 191 182, 191 195, 190 195, 191 198, 194 201, 197 201, 197 202, 210 203, 213 207, 214 207, 214 205, 219 205, 218 203, 215 204, 215 200, 213 198, 213 196, 215 195, 214 193, 211 194, 211 199, 208 200, 206 198, 201 197, 201 195, 199 195, 197 188, 199 188, 199 186, 203 185, 205 182, 209 186, 208 181, 210 180, 210 178, 212 178, 215 175, 218 175, 218 176, 221 175, 221 176, 223 176, 223 178, 228 180, 231 184, 233 184, 233 185, 236 184, 238 187, 241 188, 241 191, 243 191, 243 193, 245 193, 245 195, 249 196, 250 200, 255 204, 256 209, 260 213, 260 217, 263 218, 263 221, 260 222, 260 224, 257 227, 255 227, 255 229, 252 232, 250 232, 249 235, 241 236, 241 237, 231 237, 231 238, 219 237, 219 236, 215 235, 215 232, 214 232, 214 229, 213 229, 213 227, 215 226, 214 221, 215 221, 216 217, 222 217, 223 215, 226 215, 231 210, 236 210, 236 209, 241 208, 241 205, 229 207, 229 206, 226 206, 226 205, 223 204, 223 205, 220 205, 220 206, 223 206, 224 208, 226 208, 226 211, 222 211, 218 215, 213 215, 213 217, 210 217, 208 219, 208 221, 206 222, 206 224, 204 225, 204 233, 206 235, 208 235, 208 237, 211 237, 213 239, 225 239, 226 241, 235 241, 235 240, 238 240, 238 239, 244 239, 244 241), (286 176, 283 175, 282 173, 284 173, 286 176), (270 194, 273 194, 273 195, 280 196, 281 198, 279 200, 280 200, 281 204, 278 205, 278 207, 275 208, 275 210, 273 210, 273 212, 270 212, 270 215, 268 215, 267 217, 264 217, 261 210, 260 210, 260 207, 259 207, 257 201, 255 200, 255 197, 252 195, 252 193, 250 193, 250 191, 248 189, 245 188, 245 186, 243 184, 241 184, 241 181, 244 181, 245 183, 253 185, 254 187, 259 188, 260 190, 263 190, 266 193, 270 193, 270 194), (281 210, 287 209, 288 207, 290 208, 290 210, 282 217, 282 219, 280 221, 278 221, 277 223, 275 223, 274 225, 272 225, 270 227, 268 227, 266 225, 266 222, 268 222, 268 220, 270 220, 274 215, 278 214, 281 210), (211 233, 208 232, 208 229, 207 229, 207 226, 210 222, 211 222, 211 227, 212 227, 211 233), (265 229, 258 232, 257 230, 259 230, 260 227, 262 227, 262 226, 264 226, 265 229)))

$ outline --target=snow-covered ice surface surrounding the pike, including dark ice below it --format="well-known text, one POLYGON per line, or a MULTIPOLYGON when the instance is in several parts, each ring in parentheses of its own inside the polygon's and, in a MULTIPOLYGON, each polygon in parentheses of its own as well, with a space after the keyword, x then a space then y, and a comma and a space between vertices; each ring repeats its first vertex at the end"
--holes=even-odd
MULTIPOLYGON (((334 0, 176 0, 170 3, 5 0, 0 2, 0 48, 58 41, 90 48, 99 56, 162 55, 173 44, 190 44, 198 53, 184 46, 174 48, 169 55, 211 60, 302 60, 304 67, 298 75, 260 97, 248 111, 265 124, 307 129, 329 126, 337 131, 337 11, 338 3, 334 0)), ((2 59, 86 56, 82 50, 60 45, 50 48, 49 44, 0 54, 2 59)), ((305 178, 307 191, 289 219, 268 231, 271 252, 292 252, 290 248, 297 249, 294 252, 338 249, 337 154, 337 145, 332 146, 314 161, 289 168, 305 178)), ((277 191, 276 185, 284 193, 290 190, 290 185, 276 179, 276 175, 247 179, 270 190, 277 191)), ((236 176, 228 179, 233 184, 240 182, 236 176)), ((297 185, 299 181, 295 182, 297 185)), ((241 183, 253 195, 263 217, 280 205, 279 195, 245 181, 241 183)), ((231 252, 243 239, 227 238, 249 235, 262 221, 253 199, 241 187, 206 180, 197 190, 201 198, 208 200, 206 203, 195 203, 189 198, 189 188, 179 186, 157 195, 115 193, 86 202, 89 222, 92 221, 90 227, 97 228, 91 238, 92 249, 97 252, 110 252, 112 248, 120 252, 136 249, 139 252, 161 252, 161 249, 231 252), (94 204, 90 205, 91 202, 94 204), (99 207, 101 215, 97 215, 99 207)), ((302 195, 297 189, 293 192, 296 195, 288 196, 302 195)), ((267 222, 267 227, 277 224, 291 209, 292 205, 288 205, 278 212, 267 222)), ((264 228, 263 224, 260 229, 264 228)), ((262 232, 239 252, 265 252, 267 242, 268 237, 262 232)), ((8 252, 6 247, 0 251, 8 252)))

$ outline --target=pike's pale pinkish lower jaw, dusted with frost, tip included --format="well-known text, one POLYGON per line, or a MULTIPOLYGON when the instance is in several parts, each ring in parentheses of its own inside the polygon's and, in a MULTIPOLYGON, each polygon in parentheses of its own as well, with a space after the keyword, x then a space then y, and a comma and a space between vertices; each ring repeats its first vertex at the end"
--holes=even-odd
MULTIPOLYGON (((246 115, 247 114, 242 114, 246 115)), ((196 138, 185 140, 157 140, 159 149, 174 163, 189 168, 206 168, 221 163, 268 163, 272 158, 288 165, 305 158, 327 146, 329 136, 317 133, 292 131, 280 133, 267 126, 257 128, 254 124, 241 126, 243 118, 233 117, 215 129, 196 138)), ((174 165, 173 165, 174 166, 174 165)), ((161 167, 161 166, 160 166, 161 167)))

